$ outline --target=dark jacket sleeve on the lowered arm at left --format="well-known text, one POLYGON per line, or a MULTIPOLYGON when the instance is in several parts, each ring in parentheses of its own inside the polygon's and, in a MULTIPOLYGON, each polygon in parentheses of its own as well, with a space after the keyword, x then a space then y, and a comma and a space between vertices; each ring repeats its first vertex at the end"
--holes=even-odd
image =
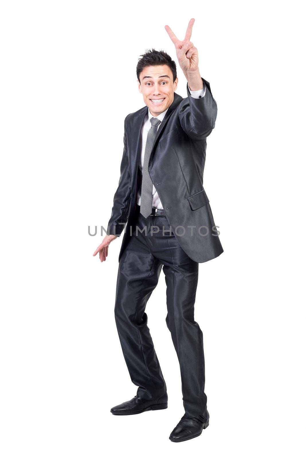
MULTIPOLYGON (((127 118, 127 117, 126 117, 127 118)), ((131 199, 131 174, 126 140, 126 119, 124 120, 123 155, 120 165, 120 179, 114 196, 114 205, 109 219, 107 234, 120 236, 127 221, 131 199)))

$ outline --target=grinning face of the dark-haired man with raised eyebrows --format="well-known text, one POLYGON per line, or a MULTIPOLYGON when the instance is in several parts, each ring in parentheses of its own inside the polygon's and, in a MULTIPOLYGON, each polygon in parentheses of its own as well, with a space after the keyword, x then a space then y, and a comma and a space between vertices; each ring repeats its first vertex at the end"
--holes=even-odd
POLYGON ((174 100, 178 78, 173 82, 173 74, 167 65, 145 67, 139 75, 138 90, 143 95, 144 103, 156 117, 163 113, 174 100))

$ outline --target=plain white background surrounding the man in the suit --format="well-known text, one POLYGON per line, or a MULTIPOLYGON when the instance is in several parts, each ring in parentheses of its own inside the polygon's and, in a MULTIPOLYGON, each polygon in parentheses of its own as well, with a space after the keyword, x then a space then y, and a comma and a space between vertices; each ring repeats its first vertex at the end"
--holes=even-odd
MULTIPOLYGON (((1 43, 2 458, 305 457, 305 73, 300 2, 10 1, 1 43), (137 60, 191 41, 218 104, 204 188, 224 253, 199 265, 209 428, 184 414, 164 274, 148 325, 169 408, 113 416, 131 383, 114 318, 122 237, 93 258, 137 60), (107 450, 109 452, 107 453, 107 450)), ((177 62, 178 66, 178 62, 177 62)), ((186 79, 178 68, 178 90, 186 79)))

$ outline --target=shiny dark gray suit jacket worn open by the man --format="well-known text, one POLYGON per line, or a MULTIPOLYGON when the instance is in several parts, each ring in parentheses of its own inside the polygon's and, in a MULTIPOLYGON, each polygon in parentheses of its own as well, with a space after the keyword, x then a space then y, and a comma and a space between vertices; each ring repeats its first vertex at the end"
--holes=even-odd
MULTIPOLYGON (((206 138, 215 126, 217 104, 208 81, 204 78, 202 81, 206 84, 206 93, 200 99, 191 97, 188 84, 185 99, 174 93, 174 101, 158 128, 148 164, 150 177, 177 241, 198 263, 223 252, 203 188, 206 138)), ((131 237, 130 225, 136 209, 137 190, 141 186, 138 155, 147 113, 148 106, 144 106, 127 115, 124 123, 120 179, 107 231, 107 234, 119 236, 127 223, 119 260, 131 237)))

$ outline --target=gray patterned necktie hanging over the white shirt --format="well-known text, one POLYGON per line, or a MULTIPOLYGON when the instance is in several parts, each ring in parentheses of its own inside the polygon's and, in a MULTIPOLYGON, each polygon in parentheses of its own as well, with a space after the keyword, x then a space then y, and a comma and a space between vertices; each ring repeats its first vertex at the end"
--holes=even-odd
POLYGON ((146 149, 144 152, 143 168, 142 168, 142 187, 140 197, 140 213, 147 218, 152 213, 152 195, 153 195, 153 182, 149 175, 148 163, 151 156, 151 151, 154 139, 157 134, 158 125, 161 121, 158 118, 150 118, 151 128, 147 136, 146 149))

